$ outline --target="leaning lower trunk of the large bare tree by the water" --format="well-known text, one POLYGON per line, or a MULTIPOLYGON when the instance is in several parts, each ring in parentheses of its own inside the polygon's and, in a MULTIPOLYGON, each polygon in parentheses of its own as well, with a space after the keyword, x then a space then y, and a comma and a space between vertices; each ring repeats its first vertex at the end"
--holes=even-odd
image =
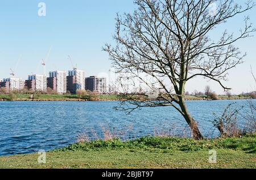
POLYGON ((183 112, 183 117, 187 121, 188 125, 191 127, 193 138, 196 140, 203 139, 203 135, 201 134, 196 121, 191 117, 188 112, 187 106, 185 105, 184 97, 180 97, 179 106, 181 111, 183 112))

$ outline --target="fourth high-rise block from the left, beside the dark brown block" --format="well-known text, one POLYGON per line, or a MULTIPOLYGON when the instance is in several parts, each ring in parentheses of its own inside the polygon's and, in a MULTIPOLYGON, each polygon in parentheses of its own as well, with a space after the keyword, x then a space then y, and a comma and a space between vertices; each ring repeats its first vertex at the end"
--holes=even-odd
POLYGON ((78 89, 85 89, 85 71, 77 69, 68 71, 67 91, 75 94, 78 89))

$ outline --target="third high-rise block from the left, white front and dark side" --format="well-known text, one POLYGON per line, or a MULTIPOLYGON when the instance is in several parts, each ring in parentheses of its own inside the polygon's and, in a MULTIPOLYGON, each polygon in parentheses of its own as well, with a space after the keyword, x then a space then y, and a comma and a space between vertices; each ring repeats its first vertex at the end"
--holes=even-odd
POLYGON ((57 91, 57 93, 67 92, 67 76, 64 71, 52 71, 49 72, 49 78, 47 78, 47 87, 57 91))

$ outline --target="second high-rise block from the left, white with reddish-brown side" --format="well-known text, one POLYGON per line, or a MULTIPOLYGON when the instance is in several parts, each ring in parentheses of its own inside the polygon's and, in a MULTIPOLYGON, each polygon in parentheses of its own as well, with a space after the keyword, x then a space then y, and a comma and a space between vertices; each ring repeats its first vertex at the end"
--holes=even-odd
POLYGON ((28 79, 26 80, 26 86, 28 89, 32 91, 44 91, 46 92, 47 84, 46 84, 46 76, 44 75, 28 75, 28 79))

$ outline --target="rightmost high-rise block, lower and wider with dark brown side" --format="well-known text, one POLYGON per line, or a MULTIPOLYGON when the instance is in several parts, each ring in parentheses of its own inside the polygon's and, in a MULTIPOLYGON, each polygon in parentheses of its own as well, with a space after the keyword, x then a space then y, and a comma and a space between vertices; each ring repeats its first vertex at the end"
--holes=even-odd
POLYGON ((98 93, 106 93, 106 78, 98 78, 97 76, 90 76, 86 78, 85 89, 89 91, 96 91, 98 93))

